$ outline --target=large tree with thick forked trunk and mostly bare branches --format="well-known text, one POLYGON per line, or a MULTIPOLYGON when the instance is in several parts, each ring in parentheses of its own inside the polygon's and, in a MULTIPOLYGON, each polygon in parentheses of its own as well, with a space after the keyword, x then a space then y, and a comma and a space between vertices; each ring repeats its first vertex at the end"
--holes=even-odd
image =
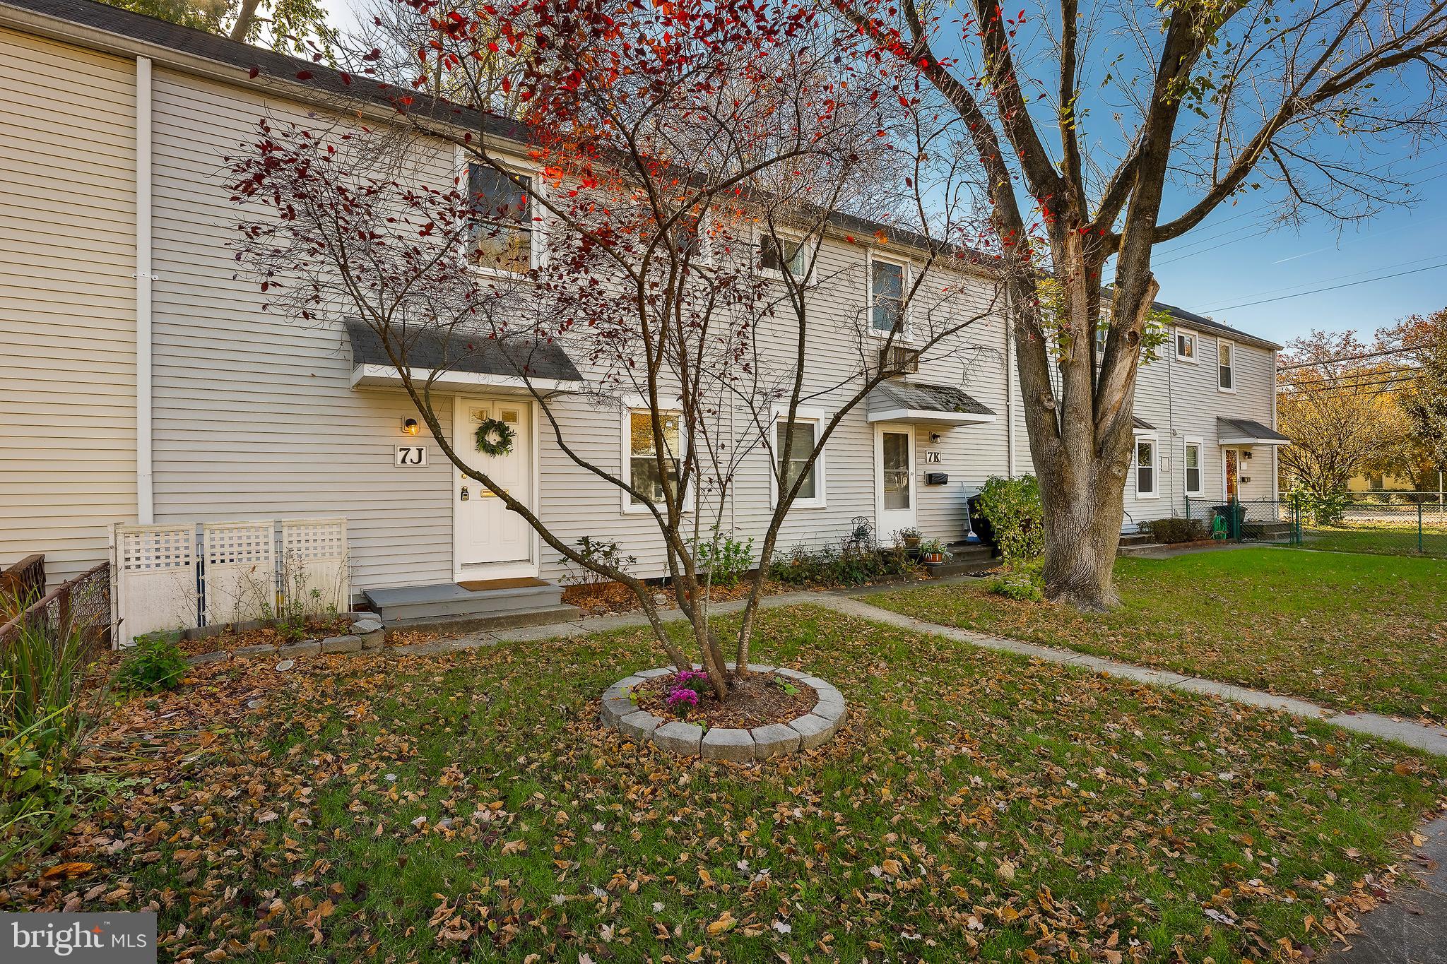
POLYGON ((1152 249, 1263 184, 1283 220, 1409 199, 1362 158, 1440 137, 1447 6, 822 1, 871 43, 873 62, 910 66, 948 101, 956 149, 985 172, 1045 509, 1046 595, 1114 606, 1152 249), (1087 132, 1092 114, 1110 120, 1087 132), (1056 292, 1042 291, 1046 277, 1056 292))

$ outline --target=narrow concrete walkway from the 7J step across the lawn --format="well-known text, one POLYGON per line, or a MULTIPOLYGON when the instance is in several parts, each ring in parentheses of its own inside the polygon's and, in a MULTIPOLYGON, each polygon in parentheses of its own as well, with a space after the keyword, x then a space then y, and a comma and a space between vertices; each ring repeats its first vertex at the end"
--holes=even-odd
MULTIPOLYGON (((929 585, 951 585, 959 582, 972 581, 972 577, 951 577, 948 580, 930 580, 929 585)), ((959 643, 968 646, 978 646, 981 649, 993 649, 1003 653, 1016 653, 1017 656, 1029 656, 1033 659, 1040 659, 1048 663, 1062 663, 1068 666, 1081 666, 1082 669, 1090 669, 1094 672, 1110 673, 1111 676, 1120 676, 1121 679, 1134 679, 1137 682, 1150 684, 1153 687, 1165 687, 1171 689, 1185 689, 1189 692, 1207 694, 1211 697, 1220 697, 1221 700, 1230 700, 1231 702, 1243 702, 1253 707, 1265 707, 1268 710, 1285 710, 1286 713, 1294 713, 1299 717, 1308 717, 1311 720, 1321 720, 1334 727, 1341 727, 1343 730, 1350 730, 1353 733, 1363 733, 1366 736, 1380 737, 1385 740, 1396 740, 1409 747, 1418 750, 1427 750, 1428 753, 1435 753, 1437 756, 1447 757, 1447 730, 1441 727, 1431 727, 1421 723, 1411 723, 1408 720, 1393 720, 1392 717, 1383 717, 1375 713, 1337 713, 1325 707, 1318 707, 1314 702, 1305 700, 1297 700, 1294 697, 1279 697, 1272 692, 1262 692, 1260 689, 1249 689, 1246 687, 1236 687, 1227 682, 1217 682, 1214 679, 1204 679, 1201 676, 1187 676, 1184 673, 1172 672, 1169 669, 1150 669, 1147 666, 1137 666, 1136 663, 1119 662, 1114 659, 1103 659, 1100 656, 1090 656, 1087 653, 1077 653, 1069 649, 1055 649, 1051 646, 1039 646, 1036 643, 1023 643, 1017 639, 1006 639, 1003 636, 987 636, 984 633, 975 633, 965 629, 955 629, 954 626, 941 626, 939 623, 929 623, 922 619, 915 619, 913 616, 904 616, 901 613, 894 613, 890 610, 871 606, 868 603, 870 595, 880 593, 893 593, 900 588, 907 588, 909 584, 888 584, 873 587, 870 590, 858 591, 829 591, 829 593, 781 593, 778 595, 765 595, 763 606, 764 608, 781 608, 786 606, 820 606, 835 613, 842 613, 845 616, 854 616, 857 619, 865 619, 874 623, 883 623, 886 626, 894 626, 899 629, 907 629, 916 633, 930 633, 935 636, 945 636, 959 643)), ((738 613, 744 608, 744 600, 734 600, 731 603, 718 603, 712 607, 713 613, 726 614, 738 613)), ((663 613, 666 621, 677 621, 683 619, 683 614, 677 610, 669 610, 663 613)), ((648 620, 642 613, 619 613, 615 616, 590 616, 570 623, 553 623, 548 626, 528 626, 524 629, 509 629, 499 630, 496 633, 473 633, 469 636, 462 636, 457 639, 444 639, 434 643, 417 643, 412 646, 398 646, 394 652, 399 655, 421 656, 428 653, 446 653, 456 652, 460 649, 472 649, 476 646, 491 646, 504 642, 527 642, 538 639, 559 639, 563 636, 577 636, 585 633, 603 633, 614 629, 632 629, 638 626, 647 626, 648 620)))

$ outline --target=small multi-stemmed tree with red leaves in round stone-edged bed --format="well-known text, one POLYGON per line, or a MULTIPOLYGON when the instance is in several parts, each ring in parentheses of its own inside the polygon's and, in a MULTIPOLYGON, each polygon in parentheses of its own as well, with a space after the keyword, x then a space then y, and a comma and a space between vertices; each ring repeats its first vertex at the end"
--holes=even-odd
POLYGON ((917 168, 930 116, 881 98, 894 81, 844 55, 852 30, 792 3, 407 0, 378 30, 383 42, 352 55, 347 72, 302 78, 349 94, 330 121, 262 120, 229 160, 249 210, 236 240, 243 270, 273 311, 360 318, 447 458, 570 564, 629 587, 670 659, 687 666, 653 587, 569 545, 454 449, 437 377, 472 353, 509 358, 551 444, 653 519, 670 591, 726 695, 748 672, 781 525, 825 444, 916 358, 974 351, 958 335, 994 309, 996 283, 962 244, 978 231, 954 217, 968 208, 948 172, 930 181, 933 217, 894 233, 917 259, 896 305, 841 318, 812 295, 831 273, 864 270, 862 251, 845 267, 819 257, 826 230, 839 234, 842 198, 925 210, 917 168), (359 100, 388 116, 359 123, 359 100), (910 191, 891 194, 897 184, 910 191), (894 319, 883 331, 880 311, 894 319), (838 351, 820 366, 825 343, 838 351), (425 364, 414 357, 424 344, 425 364), (563 347, 586 387, 544 386, 540 345, 563 347), (621 402, 629 397, 640 402, 621 402), (810 441, 794 431, 800 410, 825 400, 810 441), (598 458, 572 428, 585 403, 647 413, 632 431, 648 455, 624 471, 598 458), (731 672, 705 562, 737 478, 764 460, 777 497, 731 672))

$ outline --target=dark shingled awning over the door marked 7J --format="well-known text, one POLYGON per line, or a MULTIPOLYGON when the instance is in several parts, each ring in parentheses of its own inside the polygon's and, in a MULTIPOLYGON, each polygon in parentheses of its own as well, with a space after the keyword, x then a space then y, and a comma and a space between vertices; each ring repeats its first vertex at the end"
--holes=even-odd
MULTIPOLYGON (((382 340, 365 322, 346 322, 352 345, 352 384, 398 384, 401 376, 382 347, 382 340)), ((423 330, 408 332, 407 357, 412 377, 437 373, 434 384, 488 386, 541 390, 577 387, 577 373, 567 353, 553 341, 540 338, 469 337, 459 331, 423 330)))

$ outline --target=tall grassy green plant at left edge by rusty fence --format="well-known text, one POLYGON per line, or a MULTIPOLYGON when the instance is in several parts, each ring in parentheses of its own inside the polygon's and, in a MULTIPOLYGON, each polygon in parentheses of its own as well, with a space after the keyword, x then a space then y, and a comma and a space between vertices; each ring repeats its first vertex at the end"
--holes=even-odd
POLYGON ((85 627, 22 623, 0 645, 0 870, 43 851, 88 793, 71 773, 106 707, 85 627))

